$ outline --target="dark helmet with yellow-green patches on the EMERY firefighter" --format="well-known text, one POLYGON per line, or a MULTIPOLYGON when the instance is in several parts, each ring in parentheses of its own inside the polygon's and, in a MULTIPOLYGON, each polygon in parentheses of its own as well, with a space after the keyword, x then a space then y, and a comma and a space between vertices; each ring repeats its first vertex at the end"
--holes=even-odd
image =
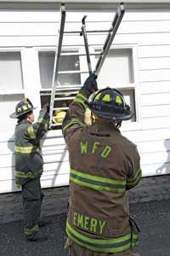
POLYGON ((86 103, 92 113, 103 119, 128 120, 133 117, 122 93, 116 89, 98 90, 86 103))

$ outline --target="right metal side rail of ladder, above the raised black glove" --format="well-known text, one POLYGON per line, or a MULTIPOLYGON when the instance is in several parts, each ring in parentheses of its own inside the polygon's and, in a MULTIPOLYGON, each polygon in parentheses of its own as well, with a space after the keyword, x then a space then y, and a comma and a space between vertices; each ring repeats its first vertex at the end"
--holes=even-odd
POLYGON ((99 60, 97 61, 96 67, 94 69, 94 73, 96 73, 96 75, 99 75, 99 71, 100 71, 101 67, 103 66, 105 57, 106 57, 109 49, 111 48, 113 39, 115 38, 116 32, 121 24, 123 15, 124 15, 124 5, 123 5, 123 3, 121 3, 118 5, 118 8, 116 10, 116 15, 114 16, 114 20, 112 21, 112 24, 111 24, 111 26, 112 26, 112 28, 110 30, 111 32, 108 33, 108 35, 105 39, 104 47, 100 53, 99 60))

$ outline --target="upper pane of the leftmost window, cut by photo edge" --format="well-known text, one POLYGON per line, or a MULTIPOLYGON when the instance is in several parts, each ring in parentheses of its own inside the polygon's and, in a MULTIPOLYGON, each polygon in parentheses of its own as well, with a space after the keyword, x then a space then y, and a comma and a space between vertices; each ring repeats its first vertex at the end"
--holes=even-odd
POLYGON ((0 90, 23 89, 20 52, 0 52, 0 90))

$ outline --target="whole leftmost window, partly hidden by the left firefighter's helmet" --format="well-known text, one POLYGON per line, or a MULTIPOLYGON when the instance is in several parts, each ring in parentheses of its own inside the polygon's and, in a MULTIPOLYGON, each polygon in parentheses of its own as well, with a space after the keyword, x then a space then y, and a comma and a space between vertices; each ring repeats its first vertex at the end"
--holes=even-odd
POLYGON ((9 118, 17 102, 24 97, 20 52, 0 52, 0 108, 3 125, 0 131, 14 129, 9 118))

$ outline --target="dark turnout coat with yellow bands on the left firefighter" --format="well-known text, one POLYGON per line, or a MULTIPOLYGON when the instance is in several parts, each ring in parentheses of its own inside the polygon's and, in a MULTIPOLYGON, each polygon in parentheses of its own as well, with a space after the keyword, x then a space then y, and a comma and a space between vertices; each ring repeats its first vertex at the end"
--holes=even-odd
POLYGON ((28 178, 42 175, 40 139, 48 131, 48 119, 48 113, 42 109, 36 123, 23 119, 15 126, 15 183, 18 186, 25 184, 28 178))

